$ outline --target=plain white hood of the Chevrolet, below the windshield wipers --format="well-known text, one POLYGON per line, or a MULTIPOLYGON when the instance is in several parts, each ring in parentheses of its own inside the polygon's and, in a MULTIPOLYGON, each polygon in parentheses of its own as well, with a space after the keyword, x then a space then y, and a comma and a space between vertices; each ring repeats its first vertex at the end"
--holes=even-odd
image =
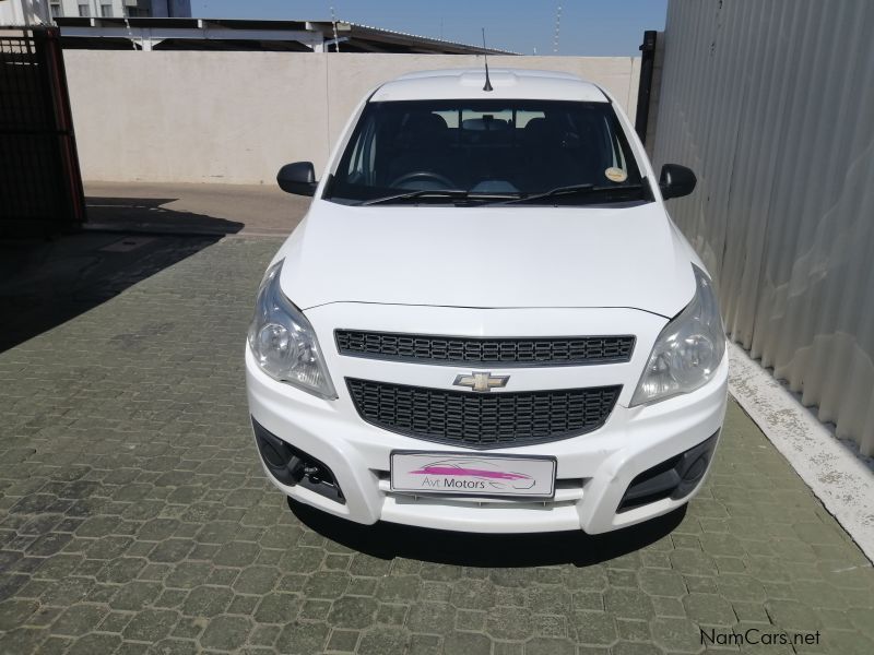
POLYGON ((654 202, 630 207, 357 207, 316 200, 283 246, 281 285, 329 302, 628 307, 692 299, 687 246, 654 202))

